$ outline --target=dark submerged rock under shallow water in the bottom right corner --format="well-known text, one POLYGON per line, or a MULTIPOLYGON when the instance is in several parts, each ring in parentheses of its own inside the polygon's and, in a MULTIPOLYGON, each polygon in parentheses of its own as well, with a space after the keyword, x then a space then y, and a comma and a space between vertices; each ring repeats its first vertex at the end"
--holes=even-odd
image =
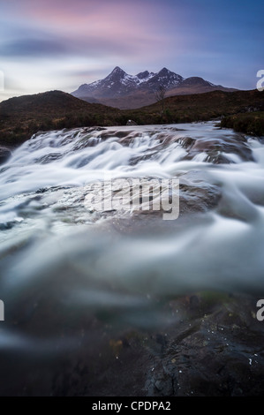
MULTIPOLYGON (((125 346, 117 361, 97 366, 102 369, 100 382, 96 373, 89 372, 89 365, 84 365, 89 372, 86 394, 261 396, 264 327, 254 317, 253 298, 208 293, 195 298, 170 303, 171 312, 181 319, 172 327, 158 334, 123 336, 125 346)), ((72 381, 76 374, 75 369, 72 381)), ((74 383, 70 381, 70 385, 74 394, 74 383)))

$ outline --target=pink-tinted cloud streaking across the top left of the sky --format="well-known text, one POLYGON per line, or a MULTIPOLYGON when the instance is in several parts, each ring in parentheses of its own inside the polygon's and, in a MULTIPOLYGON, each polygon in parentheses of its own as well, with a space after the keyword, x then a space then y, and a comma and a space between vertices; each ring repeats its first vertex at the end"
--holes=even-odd
MULTIPOLYGON (((10 0, 9 5, 14 3, 18 4, 10 0)), ((112 41, 139 52, 151 45, 157 49, 168 41, 159 28, 161 9, 155 2, 150 10, 148 2, 137 1, 23 0, 12 13, 23 16, 29 25, 63 35, 69 41, 112 41)))

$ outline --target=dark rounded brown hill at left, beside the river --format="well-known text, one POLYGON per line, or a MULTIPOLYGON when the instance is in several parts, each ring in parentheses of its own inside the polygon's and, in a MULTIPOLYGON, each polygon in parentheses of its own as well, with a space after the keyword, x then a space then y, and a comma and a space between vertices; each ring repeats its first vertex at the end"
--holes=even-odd
POLYGON ((71 94, 51 91, 0 102, 0 142, 14 145, 34 132, 109 124, 117 109, 90 104, 71 94))

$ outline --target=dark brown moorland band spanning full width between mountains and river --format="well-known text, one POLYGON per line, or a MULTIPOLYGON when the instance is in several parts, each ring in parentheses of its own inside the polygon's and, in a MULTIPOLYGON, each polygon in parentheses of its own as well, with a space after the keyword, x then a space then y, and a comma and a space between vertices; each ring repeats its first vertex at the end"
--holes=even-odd
POLYGON ((17 146, 38 131, 125 125, 129 119, 137 124, 177 124, 229 117, 223 126, 261 134, 263 114, 264 92, 257 90, 171 96, 164 100, 163 113, 162 102, 121 110, 53 91, 0 103, 0 145, 17 146))

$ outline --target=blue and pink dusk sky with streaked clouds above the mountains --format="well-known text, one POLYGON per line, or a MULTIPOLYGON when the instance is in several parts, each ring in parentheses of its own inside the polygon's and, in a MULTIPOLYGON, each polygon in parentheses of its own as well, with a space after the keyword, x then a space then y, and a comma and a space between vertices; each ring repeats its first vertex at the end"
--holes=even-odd
POLYGON ((263 0, 0 0, 0 102, 72 92, 115 66, 253 89, 263 0))

